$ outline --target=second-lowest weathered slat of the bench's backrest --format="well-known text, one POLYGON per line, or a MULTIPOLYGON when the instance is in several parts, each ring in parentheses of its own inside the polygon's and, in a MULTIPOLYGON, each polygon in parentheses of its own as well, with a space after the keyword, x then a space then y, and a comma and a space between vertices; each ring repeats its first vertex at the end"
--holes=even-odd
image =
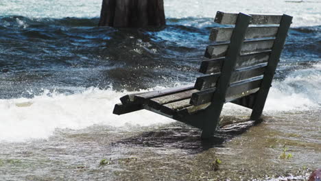
MULTIPOLYGON (((263 75, 265 71, 266 63, 263 64, 257 64, 252 67, 245 67, 242 69, 237 69, 232 74, 232 77, 230 78, 230 82, 239 82, 241 80, 250 79, 252 77, 257 77, 259 75, 263 75)), ((198 79, 195 82, 195 88, 197 90, 205 90, 208 88, 213 88, 216 85, 216 82, 219 78, 219 73, 215 73, 213 75, 206 75, 202 77, 198 77, 198 79)))

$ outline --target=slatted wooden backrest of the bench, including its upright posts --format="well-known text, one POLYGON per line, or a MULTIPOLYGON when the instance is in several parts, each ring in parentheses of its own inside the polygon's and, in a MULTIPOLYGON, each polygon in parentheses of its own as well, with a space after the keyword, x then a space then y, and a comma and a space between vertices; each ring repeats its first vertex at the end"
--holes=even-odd
POLYGON ((235 101, 254 93, 254 99, 265 102, 292 16, 217 12, 215 22, 230 27, 212 29, 215 43, 206 47, 209 59, 200 66, 200 72, 209 75, 196 80, 200 91, 193 93, 191 104, 235 101))

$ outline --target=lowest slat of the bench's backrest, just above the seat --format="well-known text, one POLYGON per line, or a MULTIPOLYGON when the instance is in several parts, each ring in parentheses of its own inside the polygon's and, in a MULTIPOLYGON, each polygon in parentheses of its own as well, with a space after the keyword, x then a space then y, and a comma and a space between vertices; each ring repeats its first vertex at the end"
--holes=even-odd
MULTIPOLYGON (((252 90, 254 88, 258 88, 261 85, 262 77, 256 77, 250 80, 244 80, 241 82, 237 82, 231 84, 226 93, 226 100, 228 97, 234 97, 235 95, 242 95, 242 93, 252 90)), ((206 104, 212 101, 213 93, 215 92, 215 88, 210 88, 206 90, 202 90, 198 93, 193 93, 191 97, 191 104, 193 106, 198 106, 202 104, 206 104)), ((229 99, 229 101, 231 101, 229 99)))

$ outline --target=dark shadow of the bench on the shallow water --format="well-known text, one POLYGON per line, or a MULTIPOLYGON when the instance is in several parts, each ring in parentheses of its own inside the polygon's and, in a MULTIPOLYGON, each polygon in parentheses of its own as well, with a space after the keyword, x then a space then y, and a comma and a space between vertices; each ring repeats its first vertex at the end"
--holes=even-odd
POLYGON ((212 147, 223 147, 223 143, 229 141, 235 136, 239 136, 258 125, 263 121, 251 121, 249 119, 238 119, 235 117, 223 117, 226 121, 221 121, 221 125, 212 138, 202 140, 201 131, 198 128, 192 128, 182 123, 172 123, 167 128, 143 132, 137 136, 122 139, 112 145, 128 145, 136 147, 165 147, 174 149, 183 149, 191 154, 204 152, 212 147))

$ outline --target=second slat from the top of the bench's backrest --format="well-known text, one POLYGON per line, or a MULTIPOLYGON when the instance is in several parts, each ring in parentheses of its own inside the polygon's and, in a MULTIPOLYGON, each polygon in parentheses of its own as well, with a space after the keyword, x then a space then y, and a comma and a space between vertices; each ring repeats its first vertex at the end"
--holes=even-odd
MULTIPOLYGON (((211 30, 210 40, 212 41, 230 41, 234 27, 215 27, 211 30)), ((278 26, 270 27, 248 27, 246 39, 275 37, 278 32, 278 26)))

